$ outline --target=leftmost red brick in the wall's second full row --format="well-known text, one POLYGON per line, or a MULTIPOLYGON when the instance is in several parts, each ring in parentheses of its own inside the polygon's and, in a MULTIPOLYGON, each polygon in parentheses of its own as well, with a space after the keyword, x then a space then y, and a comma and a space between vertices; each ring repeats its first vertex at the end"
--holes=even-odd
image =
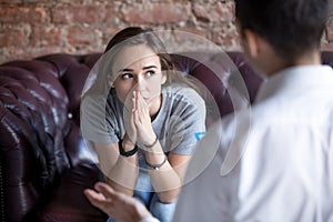
POLYGON ((24 47, 28 41, 24 29, 1 28, 0 29, 0 47, 24 47))

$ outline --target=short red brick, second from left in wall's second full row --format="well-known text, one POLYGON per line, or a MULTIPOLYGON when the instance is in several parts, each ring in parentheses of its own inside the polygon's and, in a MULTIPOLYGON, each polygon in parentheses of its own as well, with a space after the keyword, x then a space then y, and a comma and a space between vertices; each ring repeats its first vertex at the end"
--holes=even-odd
POLYGON ((52 27, 34 27, 30 36, 32 47, 57 47, 61 44, 61 30, 52 27))

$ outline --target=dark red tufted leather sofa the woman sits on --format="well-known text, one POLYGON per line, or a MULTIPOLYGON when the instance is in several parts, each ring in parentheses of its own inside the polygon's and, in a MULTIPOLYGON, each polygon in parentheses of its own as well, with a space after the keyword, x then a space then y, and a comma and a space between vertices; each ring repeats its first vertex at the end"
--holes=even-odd
MULTIPOLYGON (((199 53, 199 52, 196 52, 199 53)), ((214 61, 211 53, 199 53, 214 61)), ((84 188, 99 180, 99 170, 80 133, 80 95, 90 69, 101 54, 48 54, 0 65, 0 220, 105 221, 84 198, 84 188)), ((228 52, 244 81, 250 103, 262 79, 241 52, 228 52)), ((210 67, 173 54, 180 71, 203 82, 221 115, 234 110, 229 67, 210 67), (225 77, 223 79, 223 77, 225 77)), ((322 52, 333 67, 333 52, 322 52)))

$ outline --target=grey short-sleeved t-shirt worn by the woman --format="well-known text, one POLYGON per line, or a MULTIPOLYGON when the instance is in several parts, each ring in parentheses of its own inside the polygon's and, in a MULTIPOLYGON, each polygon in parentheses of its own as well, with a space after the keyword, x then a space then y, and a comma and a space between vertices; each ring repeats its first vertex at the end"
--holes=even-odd
MULTIPOLYGON (((87 95, 81 103, 81 129, 85 140, 115 143, 125 133, 127 111, 114 89, 105 95, 87 95)), ((195 90, 180 84, 162 88, 162 105, 152 121, 165 153, 192 154, 196 133, 205 131, 205 104, 195 90)))

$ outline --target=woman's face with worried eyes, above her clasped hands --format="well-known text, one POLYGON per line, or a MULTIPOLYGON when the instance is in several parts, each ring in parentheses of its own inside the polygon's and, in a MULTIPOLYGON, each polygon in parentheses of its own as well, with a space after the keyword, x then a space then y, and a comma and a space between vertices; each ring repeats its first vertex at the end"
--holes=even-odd
POLYGON ((134 90, 141 93, 147 103, 160 99, 161 85, 167 77, 162 73, 160 58, 149 47, 127 47, 113 61, 112 72, 117 78, 110 84, 121 102, 132 98, 134 90))

